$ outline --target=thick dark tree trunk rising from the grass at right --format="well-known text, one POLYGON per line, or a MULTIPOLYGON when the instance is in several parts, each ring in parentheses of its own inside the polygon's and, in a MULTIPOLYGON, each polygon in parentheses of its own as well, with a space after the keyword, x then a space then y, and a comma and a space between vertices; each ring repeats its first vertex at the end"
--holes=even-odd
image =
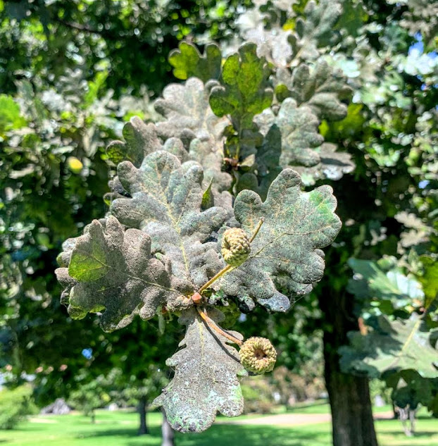
POLYGON ((325 385, 332 409, 333 446, 377 446, 368 378, 342 373, 338 349, 348 344, 346 333, 358 330, 353 297, 325 287, 323 310, 325 385))

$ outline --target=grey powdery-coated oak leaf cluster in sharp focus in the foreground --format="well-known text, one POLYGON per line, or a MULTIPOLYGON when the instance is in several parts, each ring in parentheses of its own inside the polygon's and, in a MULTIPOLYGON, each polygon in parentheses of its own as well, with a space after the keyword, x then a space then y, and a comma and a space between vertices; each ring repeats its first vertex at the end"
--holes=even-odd
MULTIPOLYGON (((215 51, 202 56, 213 61, 201 63, 200 55, 184 56, 191 48, 182 45, 171 56, 177 73, 187 77, 205 66, 217 73, 215 51), (192 66, 184 66, 189 61, 192 66)), ((168 360, 175 377, 156 399, 177 430, 204 430, 216 411, 235 416, 243 409, 237 376, 244 368, 227 337, 239 344, 241 335, 213 333, 199 313, 208 311, 215 326, 224 316, 214 307, 227 312, 230 302, 246 312, 256 304, 286 311, 287 295, 304 295, 321 279, 320 248, 341 226, 330 187, 302 192, 299 175, 277 166, 280 173, 267 182, 263 202, 256 192, 237 193, 242 187, 236 177, 222 170, 231 147, 245 148, 254 140, 248 132, 258 132, 254 116, 273 98, 264 87, 269 75, 255 45, 244 44, 227 58, 219 80, 204 85, 190 78, 166 87, 156 103, 165 120, 146 125, 132 118, 123 130, 125 142, 108 146, 109 159, 118 163, 108 216, 67 240, 58 257, 61 301, 73 318, 98 312, 101 327, 112 331, 137 314, 180 314, 185 348, 168 360), (249 258, 230 268, 220 247, 224 231, 236 226, 256 237, 249 258), (203 292, 195 309, 192 297, 203 292)), ((278 150, 286 145, 280 138, 278 150)))

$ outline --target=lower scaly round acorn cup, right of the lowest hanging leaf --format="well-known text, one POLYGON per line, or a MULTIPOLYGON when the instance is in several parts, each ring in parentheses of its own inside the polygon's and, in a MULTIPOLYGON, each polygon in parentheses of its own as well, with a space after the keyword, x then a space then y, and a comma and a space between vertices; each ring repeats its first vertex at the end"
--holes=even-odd
POLYGON ((272 371, 277 360, 274 346, 265 337, 250 337, 240 347, 239 355, 246 370, 260 374, 272 371))

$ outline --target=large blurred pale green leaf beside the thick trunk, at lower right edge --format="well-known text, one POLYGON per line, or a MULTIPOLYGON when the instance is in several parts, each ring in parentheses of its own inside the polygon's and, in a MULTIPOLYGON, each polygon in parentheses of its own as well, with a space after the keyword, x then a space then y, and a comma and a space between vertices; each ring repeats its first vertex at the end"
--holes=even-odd
MULTIPOLYGON (((367 335, 350 332, 350 345, 339 349, 345 372, 378 378, 382 373, 415 368, 423 378, 438 378, 438 349, 423 318, 413 313, 407 320, 379 316, 367 335)), ((436 330, 435 330, 436 331, 436 330)))

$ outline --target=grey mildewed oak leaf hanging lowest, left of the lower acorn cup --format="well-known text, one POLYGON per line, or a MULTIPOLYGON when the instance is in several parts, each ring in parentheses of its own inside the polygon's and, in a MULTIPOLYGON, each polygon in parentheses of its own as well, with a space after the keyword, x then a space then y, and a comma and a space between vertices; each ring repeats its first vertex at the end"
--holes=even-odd
MULTIPOLYGON (((209 311, 215 321, 224 316, 209 311)), ((215 421, 216 412, 238 416, 244 409, 238 376, 246 374, 239 354, 226 337, 212 332, 194 309, 178 320, 187 326, 179 352, 166 361, 175 368, 175 376, 154 404, 163 406, 170 426, 180 432, 202 432, 215 421)), ((242 339, 237 332, 230 332, 242 339)))

